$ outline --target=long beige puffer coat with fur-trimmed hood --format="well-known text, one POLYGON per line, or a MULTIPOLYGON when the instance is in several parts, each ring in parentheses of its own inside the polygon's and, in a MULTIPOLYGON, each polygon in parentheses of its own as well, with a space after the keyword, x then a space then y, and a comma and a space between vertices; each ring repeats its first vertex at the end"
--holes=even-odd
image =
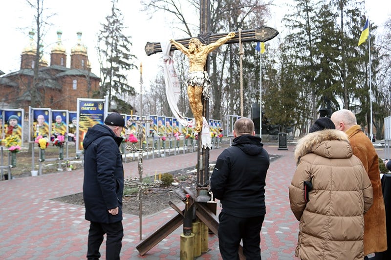
POLYGON ((296 257, 302 260, 364 259, 364 214, 372 186, 348 137, 326 129, 299 140, 297 169, 289 186, 290 206, 300 221, 296 257), (309 201, 304 181, 312 181, 309 201))

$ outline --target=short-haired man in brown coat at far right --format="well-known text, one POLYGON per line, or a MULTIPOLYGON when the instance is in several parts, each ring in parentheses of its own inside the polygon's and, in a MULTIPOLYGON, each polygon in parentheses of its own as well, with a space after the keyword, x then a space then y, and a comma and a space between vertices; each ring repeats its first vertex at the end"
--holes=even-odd
MULTIPOLYGON (((357 124, 356 116, 347 109, 334 112, 335 129, 345 132, 357 156, 368 173, 373 189, 373 204, 364 215, 364 255, 387 250, 386 211, 384 207, 379 160, 371 140, 357 124)), ((367 257, 366 257, 367 259, 367 257)))

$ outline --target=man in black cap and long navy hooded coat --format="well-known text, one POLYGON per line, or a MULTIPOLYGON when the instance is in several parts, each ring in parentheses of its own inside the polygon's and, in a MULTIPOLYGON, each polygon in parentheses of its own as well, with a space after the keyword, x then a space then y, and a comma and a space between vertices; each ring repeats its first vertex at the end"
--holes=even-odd
POLYGON ((117 260, 122 247, 122 195, 124 168, 119 145, 125 120, 118 113, 106 117, 105 124, 89 128, 83 141, 83 198, 88 231, 87 259, 99 259, 106 237, 106 259, 117 260))

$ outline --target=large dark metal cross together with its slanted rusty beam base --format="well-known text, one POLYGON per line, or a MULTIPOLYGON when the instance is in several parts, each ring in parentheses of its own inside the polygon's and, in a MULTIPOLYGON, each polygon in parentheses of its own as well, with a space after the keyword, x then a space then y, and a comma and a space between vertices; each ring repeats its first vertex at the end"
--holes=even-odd
MULTIPOLYGON (((212 34, 210 33, 210 0, 200 0, 199 2, 199 12, 200 12, 200 23, 199 23, 199 35, 198 39, 204 43, 209 44, 212 42, 217 41, 223 36, 226 36, 227 33, 219 33, 219 34, 212 34)), ((249 30, 242 30, 240 32, 240 41, 241 42, 249 42, 249 41, 261 41, 265 42, 267 40, 271 40, 274 37, 278 35, 278 31, 266 27, 261 26, 261 28, 258 29, 249 29, 249 30)), ((185 38, 176 40, 179 43, 182 43, 186 48, 188 48, 188 43, 191 38, 185 38)), ((232 44, 232 43, 238 43, 239 42, 239 33, 235 32, 235 37, 231 40, 228 40, 225 44, 232 44)), ((171 50, 176 50, 176 47, 172 46, 171 50)), ((162 48, 160 45, 160 42, 147 42, 145 46, 145 52, 147 55, 152 55, 154 53, 161 52, 162 48)), ((205 64, 205 71, 209 71, 209 62, 207 61, 205 64)), ((202 98, 203 103, 203 112, 202 115, 206 118, 207 121, 209 121, 209 104, 207 100, 202 98)), ((218 220, 215 216, 215 212, 210 211, 207 207, 205 207, 206 202, 209 200, 208 196, 200 196, 200 194, 205 194, 206 187, 209 184, 209 148, 202 148, 200 145, 201 138, 198 138, 198 163, 197 163, 197 194, 194 196, 195 203, 199 203, 199 205, 196 206, 195 214, 197 217, 204 222, 212 232, 214 232, 217 235, 217 226, 218 226, 218 220), (205 198, 206 197, 206 198, 205 198), (206 200, 205 200, 206 199, 206 200)), ((188 191, 190 194, 191 191, 188 191)), ((175 208, 174 208, 175 209, 175 208)), ((159 241, 163 240, 165 237, 167 237, 169 234, 171 234, 183 221, 183 217, 185 217, 186 214, 183 215, 183 213, 178 213, 176 217, 174 217, 172 220, 166 222, 162 227, 160 227, 158 230, 156 230, 150 237, 148 237, 145 240, 140 241, 140 243, 136 246, 137 250, 140 252, 140 255, 144 255, 146 252, 148 252, 154 245, 156 245, 159 241)), ((186 217, 185 217, 186 219, 186 217)), ((184 233, 185 233, 185 222, 183 222, 184 226, 184 233)), ((242 254, 240 254, 240 259, 243 259, 242 254)))

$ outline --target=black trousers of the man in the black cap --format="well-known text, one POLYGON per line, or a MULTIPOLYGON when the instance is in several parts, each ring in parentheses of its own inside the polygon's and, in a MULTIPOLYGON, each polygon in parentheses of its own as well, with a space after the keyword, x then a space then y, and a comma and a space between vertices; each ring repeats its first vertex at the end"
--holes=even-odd
POLYGON ((101 257, 99 248, 106 234, 106 260, 119 260, 124 237, 122 221, 115 223, 90 222, 88 231, 87 259, 96 260, 101 257))

